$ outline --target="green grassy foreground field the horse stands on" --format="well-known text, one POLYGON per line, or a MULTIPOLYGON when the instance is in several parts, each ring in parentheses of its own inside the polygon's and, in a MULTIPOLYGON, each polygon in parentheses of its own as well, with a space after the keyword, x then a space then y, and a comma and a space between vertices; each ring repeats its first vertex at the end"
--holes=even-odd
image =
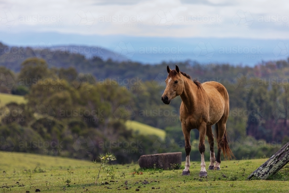
MULTIPOLYGON (((281 181, 284 178, 279 177, 285 173, 277 175, 278 181, 246 181, 247 176, 265 161, 222 161, 221 170, 208 170, 207 178, 199 178, 200 162, 195 161, 191 161, 190 176, 181 176, 182 169, 158 171, 141 170, 137 163, 113 165, 115 178, 105 180, 106 174, 101 173, 99 184, 95 185, 97 170, 90 161, 0 151, 0 192, 35 192, 36 189, 53 193, 136 192, 139 186, 139 192, 288 192, 289 182, 281 181), (143 174, 133 174, 134 171, 143 174), (145 180, 149 183, 143 184, 145 180), (101 185, 101 182, 108 184, 101 185)), ((208 167, 209 162, 206 165, 208 167)))

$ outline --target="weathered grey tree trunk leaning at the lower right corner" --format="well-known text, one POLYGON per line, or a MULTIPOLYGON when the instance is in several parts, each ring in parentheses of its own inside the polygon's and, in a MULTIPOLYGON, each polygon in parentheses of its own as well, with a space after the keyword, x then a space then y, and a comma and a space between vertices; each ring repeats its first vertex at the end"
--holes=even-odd
POLYGON ((266 180, 270 175, 275 174, 289 162, 289 142, 284 145, 277 153, 255 170, 247 180, 252 177, 266 180))

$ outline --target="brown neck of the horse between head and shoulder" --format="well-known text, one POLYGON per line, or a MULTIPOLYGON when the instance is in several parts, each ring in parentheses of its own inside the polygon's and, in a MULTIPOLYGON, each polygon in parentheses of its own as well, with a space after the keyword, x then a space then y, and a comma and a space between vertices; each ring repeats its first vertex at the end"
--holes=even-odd
POLYGON ((183 78, 183 80, 184 80, 184 90, 181 93, 180 97, 186 109, 189 110, 192 109, 197 102, 196 92, 198 91, 198 86, 191 80, 188 80, 187 78, 183 78))

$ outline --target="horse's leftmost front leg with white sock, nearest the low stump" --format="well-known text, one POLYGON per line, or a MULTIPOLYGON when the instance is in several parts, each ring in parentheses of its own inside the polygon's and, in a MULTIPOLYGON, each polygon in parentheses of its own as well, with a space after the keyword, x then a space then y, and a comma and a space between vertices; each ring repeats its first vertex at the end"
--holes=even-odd
POLYGON ((185 169, 183 170, 182 175, 184 176, 189 176, 190 175, 190 152, 191 152, 191 143, 190 143, 190 129, 186 127, 185 124, 181 124, 183 134, 185 137, 185 150, 186 150, 186 164, 185 164, 185 169))

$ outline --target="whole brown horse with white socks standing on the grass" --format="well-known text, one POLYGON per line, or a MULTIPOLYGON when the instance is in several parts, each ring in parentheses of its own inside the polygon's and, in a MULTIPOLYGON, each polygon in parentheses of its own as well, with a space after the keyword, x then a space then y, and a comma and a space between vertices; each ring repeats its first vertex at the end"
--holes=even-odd
MULTIPOLYGON (((162 95, 164 104, 170 104, 171 100, 180 95, 182 103, 180 107, 181 127, 185 137, 186 165, 182 175, 190 175, 190 131, 197 128, 200 132, 199 151, 201 153, 201 171, 199 176, 207 176, 204 159, 205 135, 210 144, 209 170, 220 170, 221 150, 224 157, 230 158, 231 152, 226 137, 226 122, 229 116, 229 95, 226 88, 214 81, 200 83, 179 70, 167 67, 168 78, 166 89, 162 95), (215 159, 214 135, 212 125, 215 125, 215 135, 218 144, 218 155, 215 159), (216 161, 216 163, 215 163, 216 161)), ((234 156, 234 155, 233 155, 234 156)))

